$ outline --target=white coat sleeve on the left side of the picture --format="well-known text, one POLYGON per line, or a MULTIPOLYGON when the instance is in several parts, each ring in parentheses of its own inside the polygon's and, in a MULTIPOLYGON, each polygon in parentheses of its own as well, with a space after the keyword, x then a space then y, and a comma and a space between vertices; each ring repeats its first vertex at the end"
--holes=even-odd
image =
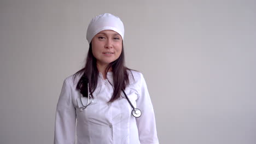
POLYGON ((72 101, 71 85, 63 82, 55 116, 54 144, 75 143, 75 107, 72 101))

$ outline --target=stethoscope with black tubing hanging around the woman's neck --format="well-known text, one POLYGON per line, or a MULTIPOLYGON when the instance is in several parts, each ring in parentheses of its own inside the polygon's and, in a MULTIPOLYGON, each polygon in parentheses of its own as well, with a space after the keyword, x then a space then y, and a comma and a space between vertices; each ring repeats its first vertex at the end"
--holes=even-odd
MULTIPOLYGON (((132 116, 133 116, 133 117, 136 117, 136 118, 140 117, 140 116, 141 116, 141 110, 135 108, 135 107, 132 105, 130 99, 127 97, 125 91, 124 91, 123 89, 122 89, 122 91, 123 91, 123 93, 124 93, 124 95, 125 95, 125 98, 128 100, 128 102, 129 102, 130 105, 132 106, 132 109, 133 109, 133 110, 132 110, 132 116)), ((88 93, 89 93, 89 87, 88 87, 88 93)), ((88 94, 87 104, 84 105, 84 104, 83 104, 83 101, 82 101, 81 93, 80 93, 79 97, 80 97, 80 102, 81 102, 81 104, 83 105, 83 107, 82 107, 82 109, 81 109, 81 110, 83 111, 84 109, 86 109, 87 106, 89 106, 89 105, 91 104, 92 101, 89 102, 89 99, 90 99, 89 97, 90 97, 90 96, 89 96, 89 94, 88 94)))

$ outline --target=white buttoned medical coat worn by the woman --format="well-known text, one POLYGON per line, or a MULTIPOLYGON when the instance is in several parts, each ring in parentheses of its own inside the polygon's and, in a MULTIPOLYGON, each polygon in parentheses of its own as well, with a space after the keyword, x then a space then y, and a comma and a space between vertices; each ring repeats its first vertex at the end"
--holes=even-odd
MULTIPOLYGON (((72 76, 67 77, 57 103, 54 143, 74 143, 76 118, 78 144, 159 143, 146 82, 141 73, 132 71, 132 74, 135 80, 131 78, 130 73, 130 85, 125 92, 132 104, 142 111, 139 118, 131 115, 132 107, 125 98, 107 103, 112 97, 113 88, 107 80, 103 80, 101 73, 97 89, 93 93, 96 103, 80 111, 77 102, 79 92, 75 90, 80 76, 75 82, 72 76)), ((107 77, 113 82, 112 72, 108 72, 107 77)), ((122 96, 125 97, 123 93, 122 96)))

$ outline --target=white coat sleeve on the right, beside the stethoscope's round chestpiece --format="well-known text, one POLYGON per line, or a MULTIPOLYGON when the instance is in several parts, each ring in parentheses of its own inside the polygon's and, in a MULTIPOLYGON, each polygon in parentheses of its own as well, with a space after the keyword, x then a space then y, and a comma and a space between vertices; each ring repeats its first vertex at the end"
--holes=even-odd
POLYGON ((141 144, 158 144, 158 136, 156 133, 155 114, 152 101, 149 97, 148 88, 143 75, 139 87, 139 97, 136 100, 137 108, 141 110, 142 115, 136 118, 139 141, 141 144))

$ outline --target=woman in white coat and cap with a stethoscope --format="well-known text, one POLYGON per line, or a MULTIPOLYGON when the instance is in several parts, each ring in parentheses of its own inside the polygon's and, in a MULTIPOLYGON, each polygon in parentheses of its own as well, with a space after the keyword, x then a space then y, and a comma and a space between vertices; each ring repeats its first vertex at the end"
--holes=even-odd
POLYGON ((144 77, 124 65, 124 25, 102 14, 91 20, 85 67, 65 79, 57 103, 55 144, 159 143, 144 77), (76 124, 77 121, 77 124, 76 124))

